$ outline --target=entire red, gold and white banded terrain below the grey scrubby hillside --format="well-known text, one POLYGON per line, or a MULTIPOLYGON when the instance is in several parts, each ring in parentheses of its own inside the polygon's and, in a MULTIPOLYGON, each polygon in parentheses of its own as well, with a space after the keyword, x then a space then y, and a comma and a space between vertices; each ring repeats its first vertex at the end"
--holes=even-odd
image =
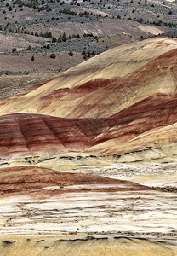
POLYGON ((0 102, 2 255, 176 254, 176 165, 120 164, 176 160, 176 60, 152 38, 0 102))

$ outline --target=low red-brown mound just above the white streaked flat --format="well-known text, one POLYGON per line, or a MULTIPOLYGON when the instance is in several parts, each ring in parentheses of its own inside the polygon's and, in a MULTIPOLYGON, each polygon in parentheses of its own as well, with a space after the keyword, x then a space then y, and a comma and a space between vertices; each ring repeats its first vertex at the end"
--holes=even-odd
MULTIPOLYGON (((138 183, 122 181, 117 179, 112 179, 108 177, 100 177, 91 174, 83 173, 71 173, 71 172, 57 172, 48 168, 40 168, 34 166, 20 166, 11 168, 1 168, 0 169, 0 194, 3 195, 13 195, 13 194, 26 194, 29 192, 38 191, 38 189, 43 189, 46 187, 61 186, 61 189, 57 189, 58 193, 68 192, 68 190, 62 190, 66 186, 73 185, 115 185, 114 190, 117 191, 134 191, 134 190, 151 190, 151 188, 139 185, 138 183)), ((87 189, 89 187, 87 186, 87 189)), ((80 189, 77 189, 80 191, 80 189)), ((74 189, 74 191, 77 191, 74 189)), ((82 189, 81 189, 82 190, 82 189)), ((84 188, 83 188, 84 190, 84 188)), ((90 190, 104 190, 92 188, 90 190)), ((106 191, 109 191, 106 189, 106 191)), ((112 189, 110 189, 112 191, 112 189)), ((44 192, 43 192, 44 193, 44 192)), ((47 193, 47 190, 46 190, 47 193)))

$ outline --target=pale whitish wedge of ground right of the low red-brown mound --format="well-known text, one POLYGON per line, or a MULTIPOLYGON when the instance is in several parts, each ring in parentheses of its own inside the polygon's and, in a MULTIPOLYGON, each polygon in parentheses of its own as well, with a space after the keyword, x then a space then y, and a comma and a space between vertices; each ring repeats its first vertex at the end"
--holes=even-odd
POLYGON ((100 176, 123 179, 154 188, 177 188, 176 163, 146 163, 140 165, 84 166, 73 172, 97 173, 100 176))

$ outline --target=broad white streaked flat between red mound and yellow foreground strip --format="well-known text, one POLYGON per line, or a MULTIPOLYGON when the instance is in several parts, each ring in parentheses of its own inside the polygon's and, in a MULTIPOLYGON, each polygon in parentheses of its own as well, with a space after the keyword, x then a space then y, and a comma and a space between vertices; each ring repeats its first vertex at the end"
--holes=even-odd
MULTIPOLYGON (((105 185, 106 186, 106 185, 105 185)), ((58 188, 46 188, 54 189, 58 188)), ((176 241, 176 194, 158 191, 11 196, 0 201, 1 234, 88 234, 176 241)))

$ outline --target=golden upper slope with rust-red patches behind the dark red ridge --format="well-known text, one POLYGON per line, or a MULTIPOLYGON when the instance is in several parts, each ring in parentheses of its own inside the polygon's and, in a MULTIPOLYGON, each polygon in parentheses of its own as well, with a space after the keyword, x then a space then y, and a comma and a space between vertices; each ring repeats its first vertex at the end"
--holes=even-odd
POLYGON ((176 39, 152 38, 111 49, 36 90, 4 100, 0 113, 100 118, 157 93, 174 95, 176 48, 176 39))

